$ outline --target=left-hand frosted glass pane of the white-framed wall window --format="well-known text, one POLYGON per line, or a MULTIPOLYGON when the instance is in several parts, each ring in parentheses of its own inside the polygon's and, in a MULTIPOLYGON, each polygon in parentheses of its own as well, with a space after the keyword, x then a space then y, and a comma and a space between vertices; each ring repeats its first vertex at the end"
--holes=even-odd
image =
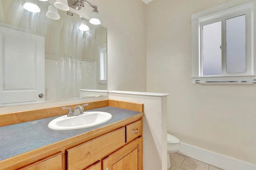
POLYGON ((203 25, 202 60, 203 75, 221 75, 221 21, 203 25))

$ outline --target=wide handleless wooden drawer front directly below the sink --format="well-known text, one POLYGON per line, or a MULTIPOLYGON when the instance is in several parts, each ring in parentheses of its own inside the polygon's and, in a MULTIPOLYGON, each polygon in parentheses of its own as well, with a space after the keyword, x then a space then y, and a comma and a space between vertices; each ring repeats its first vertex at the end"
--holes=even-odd
POLYGON ((66 150, 67 169, 81 170, 125 144, 125 128, 66 150))

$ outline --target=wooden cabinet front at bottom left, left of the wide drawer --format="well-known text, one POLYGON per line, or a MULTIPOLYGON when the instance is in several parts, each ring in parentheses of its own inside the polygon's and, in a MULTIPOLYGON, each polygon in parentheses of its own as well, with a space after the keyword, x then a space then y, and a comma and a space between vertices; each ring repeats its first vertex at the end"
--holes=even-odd
POLYGON ((18 170, 62 170, 62 153, 58 152, 18 170))

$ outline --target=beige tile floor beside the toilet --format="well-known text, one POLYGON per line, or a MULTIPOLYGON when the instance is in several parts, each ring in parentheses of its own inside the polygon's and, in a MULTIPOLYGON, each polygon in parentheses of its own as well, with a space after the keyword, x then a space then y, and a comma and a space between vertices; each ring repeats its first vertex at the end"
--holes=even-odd
POLYGON ((168 170, 222 170, 179 153, 170 154, 171 167, 168 170))

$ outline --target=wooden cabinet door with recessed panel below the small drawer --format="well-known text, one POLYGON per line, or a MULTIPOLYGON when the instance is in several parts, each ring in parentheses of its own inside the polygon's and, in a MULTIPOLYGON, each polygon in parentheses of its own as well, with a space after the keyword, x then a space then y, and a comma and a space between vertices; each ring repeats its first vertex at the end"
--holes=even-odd
POLYGON ((102 160, 103 170, 142 170, 142 137, 102 160))

